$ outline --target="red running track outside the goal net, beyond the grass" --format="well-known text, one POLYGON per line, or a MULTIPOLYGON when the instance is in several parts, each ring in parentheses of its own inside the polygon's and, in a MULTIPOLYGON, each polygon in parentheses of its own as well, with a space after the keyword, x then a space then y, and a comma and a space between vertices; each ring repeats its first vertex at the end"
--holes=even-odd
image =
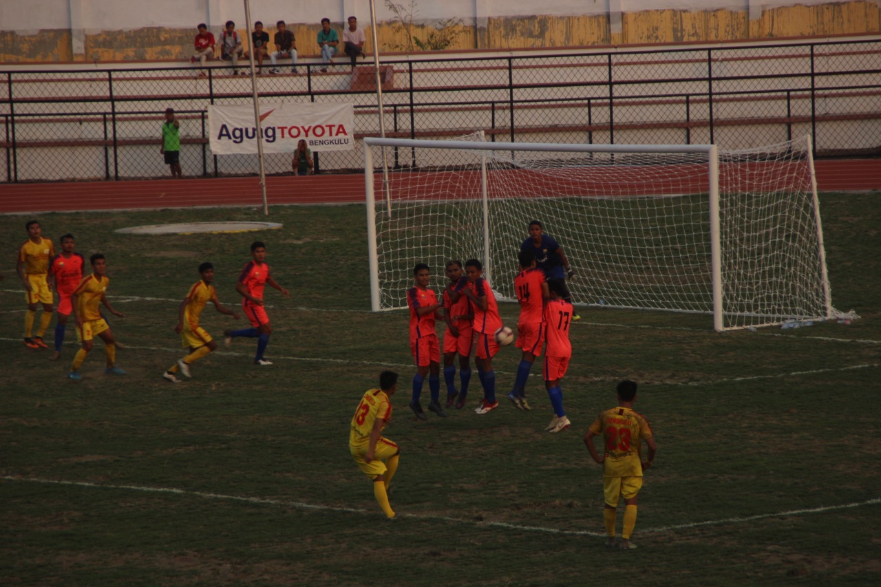
MULTIPOLYGON (((881 191, 881 160, 819 160, 816 170, 820 191, 881 191)), ((270 205, 364 202, 364 175, 268 177, 266 197, 270 205)), ((4 214, 233 205, 263 205, 258 178, 0 184, 4 214)))

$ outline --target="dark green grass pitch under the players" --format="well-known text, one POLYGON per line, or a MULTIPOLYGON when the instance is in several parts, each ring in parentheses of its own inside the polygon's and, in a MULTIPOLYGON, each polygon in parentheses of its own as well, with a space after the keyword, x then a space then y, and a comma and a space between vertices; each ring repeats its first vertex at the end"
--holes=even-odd
MULTIPOLYGON (((111 323, 129 374, 103 375, 98 343, 79 384, 65 378, 72 329, 59 362, 21 344, 12 259, 26 218, 0 217, 0 583, 879 584, 881 199, 821 204, 833 302, 862 319, 720 334, 707 316, 586 309, 563 383, 574 426, 559 435, 542 431, 536 376, 533 412, 412 418, 407 316, 367 311, 362 206, 273 208, 285 227, 250 234, 113 232, 263 219, 248 209, 41 216, 54 241, 71 232, 85 256, 107 255, 126 314, 111 323), (183 354, 173 329, 196 266, 215 264, 237 308, 256 238, 292 292, 267 288, 275 365, 254 367, 254 341, 236 339, 192 380, 163 381, 183 354), (402 375, 386 430, 402 447, 395 522, 347 448, 382 368, 402 375), (581 442, 624 377, 640 382, 659 446, 626 553, 603 547, 601 469, 581 442)), ((515 323, 514 305, 501 311, 515 323)), ((203 323, 218 339, 236 325, 211 307, 203 323)), ((501 392, 517 361, 513 348, 496 360, 501 392)))

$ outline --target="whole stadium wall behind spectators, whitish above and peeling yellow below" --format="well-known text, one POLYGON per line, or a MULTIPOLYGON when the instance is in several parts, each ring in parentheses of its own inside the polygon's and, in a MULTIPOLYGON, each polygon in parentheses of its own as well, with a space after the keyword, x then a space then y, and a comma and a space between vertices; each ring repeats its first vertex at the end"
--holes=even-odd
MULTIPOLYGON (((337 29, 349 15, 367 28, 369 0, 330 4, 253 2, 252 19, 274 33, 283 19, 300 55, 315 55, 322 17, 337 29)), ((376 2, 377 39, 384 53, 409 50, 410 37, 384 2, 376 2)), ((744 41, 881 33, 878 0, 400 0, 411 35, 426 41, 444 24, 452 50, 560 48, 691 41, 744 41), (409 11, 409 12, 408 12, 409 11), (540 11, 540 14, 533 13, 540 11)), ((241 0, 4 0, 0 63, 119 62, 189 58, 196 25, 217 35, 226 20, 245 31, 241 0)), ((418 53, 418 51, 415 51, 418 53)))

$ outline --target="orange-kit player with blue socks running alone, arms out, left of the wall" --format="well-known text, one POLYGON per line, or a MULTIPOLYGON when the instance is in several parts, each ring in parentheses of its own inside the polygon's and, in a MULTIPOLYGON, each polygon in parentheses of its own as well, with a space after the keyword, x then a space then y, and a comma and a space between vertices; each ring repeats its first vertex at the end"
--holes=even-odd
POLYGON ((270 317, 263 308, 263 289, 271 286, 278 289, 285 297, 289 297, 288 291, 279 286, 275 279, 270 277, 270 266, 266 264, 266 245, 261 241, 251 243, 251 261, 241 271, 235 291, 241 294, 241 309, 251 321, 253 328, 245 328, 240 331, 224 331, 226 346, 233 344, 233 338, 257 338, 257 353, 254 357, 255 365, 271 365, 271 360, 263 359, 266 346, 270 344, 272 325, 270 317))

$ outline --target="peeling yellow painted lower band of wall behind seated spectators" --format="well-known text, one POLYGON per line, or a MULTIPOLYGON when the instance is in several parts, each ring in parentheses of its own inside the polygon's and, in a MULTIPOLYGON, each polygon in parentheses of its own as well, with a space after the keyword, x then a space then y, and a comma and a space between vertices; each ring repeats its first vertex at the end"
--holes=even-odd
MULTIPOLYGON (((343 24, 336 23, 338 32, 343 24)), ((291 25, 300 56, 317 55, 319 27, 291 25)), ((748 41, 785 37, 881 33, 881 6, 871 0, 796 5, 766 9, 760 19, 747 11, 638 11, 621 15, 621 32, 611 33, 608 15, 487 19, 485 27, 457 26, 451 50, 474 48, 553 48, 596 45, 679 43, 688 41, 748 41)), ((267 28, 270 33, 274 29, 267 28)), ((426 40, 432 27, 416 25, 413 35, 426 40)), ((218 31, 213 31, 218 34, 218 31)), ((249 35, 239 31, 246 40, 249 35)), ((0 63, 59 61, 184 60, 192 46, 192 29, 142 28, 107 31, 84 37, 85 51, 74 55, 69 30, 46 30, 33 35, 0 32, 0 63)), ((373 50, 366 31, 366 50, 373 50)), ((399 23, 382 23, 377 37, 383 51, 405 51, 407 36, 399 23)), ((417 51, 418 52, 418 51, 417 51)))

